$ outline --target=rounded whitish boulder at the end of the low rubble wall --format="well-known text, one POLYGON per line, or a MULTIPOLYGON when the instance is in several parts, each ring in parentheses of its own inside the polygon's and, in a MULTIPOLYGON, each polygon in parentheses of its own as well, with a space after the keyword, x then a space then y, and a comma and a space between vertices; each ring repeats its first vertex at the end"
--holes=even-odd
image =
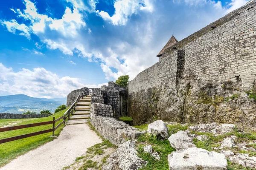
POLYGON ((157 120, 149 124, 148 133, 153 136, 160 136, 163 139, 167 139, 169 137, 167 125, 162 120, 157 120))

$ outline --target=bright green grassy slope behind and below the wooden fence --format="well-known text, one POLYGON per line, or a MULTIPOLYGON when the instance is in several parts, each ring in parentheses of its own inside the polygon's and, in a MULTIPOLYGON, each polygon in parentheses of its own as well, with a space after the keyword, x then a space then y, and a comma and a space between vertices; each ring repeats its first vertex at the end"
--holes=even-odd
MULTIPOLYGON (((67 109, 59 111, 58 113, 55 113, 49 117, 44 118, 34 118, 34 119, 0 119, 0 127, 3 127, 4 125, 11 125, 14 122, 19 122, 15 124, 17 125, 26 125, 31 123, 37 123, 37 122, 47 122, 53 119, 57 119, 58 117, 63 116, 67 109)), ((55 126, 58 125, 62 120, 55 123, 55 126)), ((61 125, 56 131, 55 136, 58 136, 62 130, 64 125, 61 125)), ((29 127, 19 130, 11 130, 7 132, 0 133, 0 139, 9 138, 13 136, 23 135, 27 133, 37 132, 41 130, 47 130, 52 128, 52 124, 50 125, 43 125, 43 126, 37 126, 37 127, 29 127)), ((7 164, 12 159, 15 159, 17 156, 23 155, 24 153, 28 152, 29 150, 35 149, 49 141, 52 141, 54 138, 50 137, 52 135, 52 132, 50 133, 44 133, 38 136, 32 136, 29 138, 19 139, 12 142, 7 142, 0 144, 0 167, 4 164, 7 164)))

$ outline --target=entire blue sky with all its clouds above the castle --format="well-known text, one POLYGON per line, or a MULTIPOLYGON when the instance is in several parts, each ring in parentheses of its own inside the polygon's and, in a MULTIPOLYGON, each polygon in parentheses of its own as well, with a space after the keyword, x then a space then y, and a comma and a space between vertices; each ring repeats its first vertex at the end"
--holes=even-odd
POLYGON ((177 40, 246 0, 8 0, 0 2, 0 96, 64 97, 158 61, 177 40))

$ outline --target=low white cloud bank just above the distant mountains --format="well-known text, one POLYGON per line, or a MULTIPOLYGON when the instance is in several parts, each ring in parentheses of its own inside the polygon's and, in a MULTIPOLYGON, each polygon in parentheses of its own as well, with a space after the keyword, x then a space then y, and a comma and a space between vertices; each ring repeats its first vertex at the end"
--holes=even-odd
POLYGON ((102 85, 84 85, 81 79, 74 77, 58 77, 45 68, 29 70, 23 68, 15 72, 0 63, 0 89, 9 94, 26 94, 32 97, 66 97, 70 91, 78 88, 100 88, 102 85))

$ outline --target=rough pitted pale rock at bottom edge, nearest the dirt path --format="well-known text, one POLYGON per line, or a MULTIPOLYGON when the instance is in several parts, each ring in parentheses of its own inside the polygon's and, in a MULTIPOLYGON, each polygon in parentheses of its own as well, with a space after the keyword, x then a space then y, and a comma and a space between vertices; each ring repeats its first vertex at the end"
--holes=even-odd
POLYGON ((129 140, 123 143, 116 152, 118 154, 118 163, 121 170, 138 170, 147 164, 147 161, 137 156, 138 153, 135 150, 134 141, 129 140))

